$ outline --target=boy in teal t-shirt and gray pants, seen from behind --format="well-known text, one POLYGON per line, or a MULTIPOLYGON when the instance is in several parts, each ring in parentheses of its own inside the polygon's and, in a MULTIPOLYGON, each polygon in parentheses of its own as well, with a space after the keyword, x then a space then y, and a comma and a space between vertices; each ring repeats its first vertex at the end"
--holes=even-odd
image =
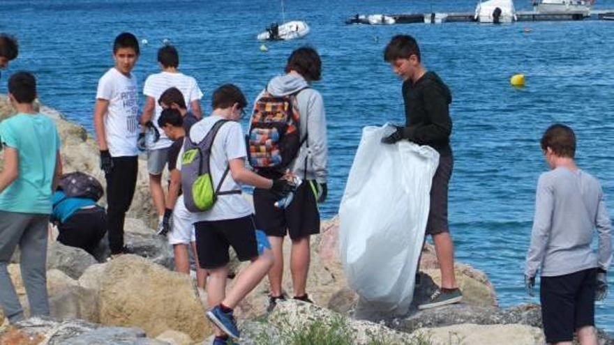
POLYGON ((60 139, 51 118, 34 110, 36 79, 17 72, 8 80, 8 98, 17 115, 0 123, 0 306, 8 321, 24 319, 7 266, 20 246, 21 275, 30 314, 49 315, 47 224, 52 190, 61 174, 60 139))

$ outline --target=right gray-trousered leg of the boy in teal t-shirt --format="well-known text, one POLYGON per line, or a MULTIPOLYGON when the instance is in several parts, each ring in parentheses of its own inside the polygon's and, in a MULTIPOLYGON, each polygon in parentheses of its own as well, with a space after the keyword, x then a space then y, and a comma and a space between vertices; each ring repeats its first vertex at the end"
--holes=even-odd
POLYGON ((20 240, 20 267, 31 316, 50 315, 47 298, 48 227, 48 215, 33 215, 20 240))

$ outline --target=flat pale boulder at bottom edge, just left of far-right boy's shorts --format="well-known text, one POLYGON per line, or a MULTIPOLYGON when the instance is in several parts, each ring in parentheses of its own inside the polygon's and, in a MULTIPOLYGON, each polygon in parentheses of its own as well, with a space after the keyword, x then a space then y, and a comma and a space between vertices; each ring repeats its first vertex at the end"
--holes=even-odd
POLYGON ((527 325, 450 325, 440 328, 420 328, 413 333, 429 344, 451 345, 537 345, 546 344, 541 329, 527 325))

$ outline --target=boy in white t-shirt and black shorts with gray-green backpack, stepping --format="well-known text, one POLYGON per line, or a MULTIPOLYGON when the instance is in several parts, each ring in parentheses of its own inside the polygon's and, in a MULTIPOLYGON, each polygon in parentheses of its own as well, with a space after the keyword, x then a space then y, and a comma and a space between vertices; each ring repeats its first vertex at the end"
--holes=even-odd
MULTIPOLYGON (((241 196, 241 184, 271 190, 280 199, 292 190, 292 185, 284 178, 271 180, 246 169, 246 144, 241 124, 237 122, 246 105, 245 96, 237 86, 220 86, 213 94, 213 113, 195 123, 188 135, 193 142, 200 142, 218 121, 230 120, 217 132, 211 146, 209 169, 214 186, 218 188, 221 183, 220 192, 239 192, 218 194, 210 210, 194 213, 198 261, 209 274, 207 302, 213 309, 207 312, 207 317, 218 326, 214 344, 227 344, 227 337, 239 338, 232 308, 260 283, 273 265, 271 246, 267 236, 255 229, 253 206, 241 196), (224 178, 226 169, 230 169, 230 174, 224 178), (241 271, 232 289, 225 293, 230 246, 239 260, 252 263, 241 271)), ((180 158, 182 156, 183 149, 179 154, 180 158)), ((181 159, 177 169, 181 169, 181 159)), ((183 183, 181 187, 183 190, 190 188, 183 183)))

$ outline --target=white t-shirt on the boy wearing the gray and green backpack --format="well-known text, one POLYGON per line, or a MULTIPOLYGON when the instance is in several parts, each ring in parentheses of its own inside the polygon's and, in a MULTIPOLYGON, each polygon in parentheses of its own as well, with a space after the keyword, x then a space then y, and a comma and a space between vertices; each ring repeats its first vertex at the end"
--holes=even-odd
MULTIPOLYGON (((223 118, 212 114, 195 123, 190 129, 190 139, 199 142, 209 133, 214 124, 223 118)), ((179 157, 184 153, 181 148, 179 157)), ((211 147, 211 177, 214 181, 214 188, 220 184, 224 171, 228 167, 228 161, 236 158, 245 160, 247 155, 245 138, 241 124, 236 121, 224 123, 218 130, 214 144, 211 147)), ((177 169, 181 170, 181 159, 177 161, 177 169)), ((181 186, 187 188, 187 186, 181 186)), ((224 179, 220 192, 228 190, 241 190, 241 185, 232 179, 230 171, 224 179)), ((211 210, 195 213, 195 222, 214 221, 214 220, 233 220, 246 217, 254 213, 253 206, 241 194, 220 195, 211 210)))

